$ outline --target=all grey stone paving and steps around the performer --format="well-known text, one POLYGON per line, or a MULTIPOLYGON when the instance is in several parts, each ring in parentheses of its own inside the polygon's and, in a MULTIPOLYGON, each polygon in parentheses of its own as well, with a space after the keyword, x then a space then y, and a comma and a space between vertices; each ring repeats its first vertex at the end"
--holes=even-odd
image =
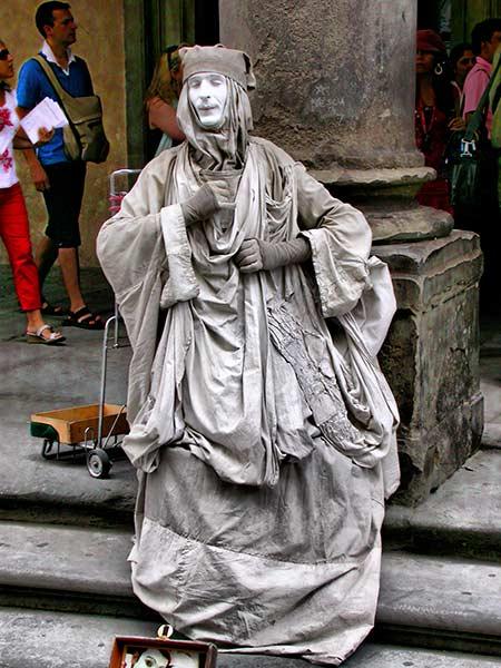
MULTIPOLYGON (((117 461, 109 479, 95 480, 81 456, 46 461, 28 429, 32 412, 97 403, 102 334, 69 327, 62 348, 28 345, 4 268, 0 278, 0 668, 106 668, 115 635, 151 635, 158 626, 128 578, 135 473, 117 461)), ((110 313, 99 274, 84 271, 82 283, 89 305, 110 313)), ((47 296, 63 302, 57 278, 47 296)), ((126 397, 130 348, 122 332, 120 344, 109 352, 114 403, 126 397)), ((481 370, 483 449, 425 503, 389 507, 376 629, 348 668, 501 665, 501 317, 482 321, 481 370)))

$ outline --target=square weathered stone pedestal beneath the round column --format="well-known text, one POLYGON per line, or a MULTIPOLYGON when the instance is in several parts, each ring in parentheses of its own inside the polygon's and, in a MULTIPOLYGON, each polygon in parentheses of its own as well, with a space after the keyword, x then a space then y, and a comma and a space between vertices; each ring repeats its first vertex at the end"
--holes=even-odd
POLYGON ((480 445, 479 237, 374 246, 392 272, 399 311, 380 361, 401 413, 402 484, 419 503, 480 445))

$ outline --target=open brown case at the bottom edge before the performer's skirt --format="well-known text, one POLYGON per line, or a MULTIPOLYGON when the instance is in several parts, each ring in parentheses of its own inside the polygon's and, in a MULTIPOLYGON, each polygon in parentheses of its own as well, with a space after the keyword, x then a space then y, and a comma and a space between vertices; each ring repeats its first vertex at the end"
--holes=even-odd
POLYGON ((109 668, 215 668, 216 660, 208 642, 117 636, 109 668))

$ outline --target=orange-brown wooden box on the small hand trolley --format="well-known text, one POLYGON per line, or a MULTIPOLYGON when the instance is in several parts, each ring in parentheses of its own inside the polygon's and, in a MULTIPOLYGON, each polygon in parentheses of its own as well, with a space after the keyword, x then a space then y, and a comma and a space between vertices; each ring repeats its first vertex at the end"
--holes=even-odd
MULTIPOLYGON (((102 438, 108 436, 111 426, 114 426, 117 415, 117 423, 114 426, 111 435, 127 434, 129 425, 127 422, 127 411, 122 406, 115 404, 105 404, 102 414, 102 438), (121 411, 121 414, 119 415, 121 411)), ((58 411, 48 411, 46 413, 33 413, 31 423, 48 424, 52 426, 58 435, 60 443, 81 443, 86 440, 86 429, 91 428, 90 438, 98 438, 99 404, 88 406, 72 406, 60 409, 58 411)))

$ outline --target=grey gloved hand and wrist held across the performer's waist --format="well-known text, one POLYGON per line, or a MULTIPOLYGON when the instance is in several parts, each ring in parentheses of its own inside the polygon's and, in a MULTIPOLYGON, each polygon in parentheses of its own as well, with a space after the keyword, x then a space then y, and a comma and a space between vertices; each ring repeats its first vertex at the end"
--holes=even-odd
POLYGON ((310 244, 303 237, 289 242, 245 239, 235 255, 235 262, 243 274, 253 274, 262 269, 271 271, 289 264, 301 264, 311 256, 310 244))

